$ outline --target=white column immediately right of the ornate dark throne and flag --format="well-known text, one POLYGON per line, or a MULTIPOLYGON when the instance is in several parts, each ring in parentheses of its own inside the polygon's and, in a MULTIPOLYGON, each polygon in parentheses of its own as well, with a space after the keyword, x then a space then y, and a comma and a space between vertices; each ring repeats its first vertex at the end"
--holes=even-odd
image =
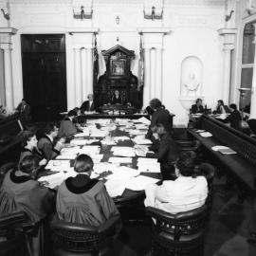
POLYGON ((144 86, 143 86, 143 108, 149 105, 150 99, 150 48, 144 49, 144 86))

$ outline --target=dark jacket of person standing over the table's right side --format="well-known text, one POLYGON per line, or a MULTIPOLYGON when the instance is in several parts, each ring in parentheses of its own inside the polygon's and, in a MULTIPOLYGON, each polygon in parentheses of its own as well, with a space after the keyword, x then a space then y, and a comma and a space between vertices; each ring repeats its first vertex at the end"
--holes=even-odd
POLYGON ((157 123, 162 123, 166 131, 171 133, 172 132, 171 121, 172 121, 172 117, 167 109, 159 108, 155 110, 155 112, 152 115, 151 124, 149 126, 149 130, 146 137, 147 138, 152 137, 151 128, 154 127, 155 124, 157 123))

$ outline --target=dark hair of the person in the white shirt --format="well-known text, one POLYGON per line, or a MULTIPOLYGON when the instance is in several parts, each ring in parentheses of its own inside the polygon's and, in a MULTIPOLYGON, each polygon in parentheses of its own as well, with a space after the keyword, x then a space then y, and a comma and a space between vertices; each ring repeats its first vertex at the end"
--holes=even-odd
POLYGON ((176 161, 176 168, 183 176, 192 176, 194 174, 194 155, 190 152, 181 153, 176 161))

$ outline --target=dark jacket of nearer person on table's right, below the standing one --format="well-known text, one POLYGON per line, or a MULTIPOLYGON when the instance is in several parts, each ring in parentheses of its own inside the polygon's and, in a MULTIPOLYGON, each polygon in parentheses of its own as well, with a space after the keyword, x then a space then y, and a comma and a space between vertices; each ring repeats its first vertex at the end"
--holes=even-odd
POLYGON ((158 142, 158 149, 155 150, 155 153, 148 153, 148 157, 157 158, 158 162, 172 163, 176 160, 178 155, 178 148, 175 140, 169 135, 165 134, 160 137, 158 142))

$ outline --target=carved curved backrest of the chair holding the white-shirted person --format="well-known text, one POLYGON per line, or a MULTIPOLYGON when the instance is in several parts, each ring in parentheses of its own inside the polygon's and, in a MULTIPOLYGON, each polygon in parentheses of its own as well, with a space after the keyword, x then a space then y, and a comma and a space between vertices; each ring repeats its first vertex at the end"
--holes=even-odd
POLYGON ((152 207, 147 207, 146 212, 156 220, 156 225, 154 225, 156 233, 167 239, 174 237, 174 241, 179 241, 181 237, 189 237, 196 233, 200 236, 205 229, 206 205, 177 214, 152 207))

